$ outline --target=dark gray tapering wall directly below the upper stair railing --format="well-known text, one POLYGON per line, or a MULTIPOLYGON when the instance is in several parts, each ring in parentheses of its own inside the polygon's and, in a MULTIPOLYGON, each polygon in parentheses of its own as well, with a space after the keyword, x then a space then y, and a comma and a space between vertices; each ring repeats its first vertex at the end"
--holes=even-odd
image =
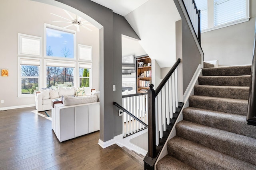
POLYGON ((178 0, 174 0, 174 3, 182 20, 182 81, 184 94, 198 65, 202 64, 202 61, 200 51, 198 50, 178 0))

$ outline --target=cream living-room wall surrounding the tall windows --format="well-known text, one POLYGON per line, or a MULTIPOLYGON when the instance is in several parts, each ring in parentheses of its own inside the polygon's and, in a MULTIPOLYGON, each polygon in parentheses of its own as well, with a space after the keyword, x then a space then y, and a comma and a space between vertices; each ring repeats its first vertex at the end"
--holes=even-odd
MULTIPOLYGON (((56 25, 52 20, 57 20, 57 17, 53 18, 50 12, 68 18, 62 9, 47 4, 30 0, 1 0, 0 69, 9 69, 9 76, 0 76, 0 100, 4 100, 4 104, 0 104, 0 110, 1 107, 35 104, 34 97, 18 98, 18 33, 42 37, 42 55, 44 55, 44 23, 56 25)), ((72 27, 70 29, 73 29, 72 27)), ((93 88, 99 90, 99 30, 93 27, 91 29, 93 31, 80 28, 76 38, 77 44, 92 46, 94 77, 92 84, 93 88)), ((45 82, 42 82, 43 84, 45 82)))

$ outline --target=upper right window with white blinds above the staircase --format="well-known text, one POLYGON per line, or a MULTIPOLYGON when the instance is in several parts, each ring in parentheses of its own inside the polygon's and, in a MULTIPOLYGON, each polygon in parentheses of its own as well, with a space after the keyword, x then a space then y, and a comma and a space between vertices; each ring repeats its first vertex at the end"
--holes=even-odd
POLYGON ((250 18, 250 0, 195 0, 201 10, 202 32, 211 31, 250 18))

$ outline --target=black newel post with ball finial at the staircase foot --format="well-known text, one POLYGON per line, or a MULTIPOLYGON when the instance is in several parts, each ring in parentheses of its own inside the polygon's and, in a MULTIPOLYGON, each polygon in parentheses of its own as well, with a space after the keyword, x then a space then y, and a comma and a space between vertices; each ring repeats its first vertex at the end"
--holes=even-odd
POLYGON ((155 90, 151 83, 148 90, 148 156, 154 158, 156 156, 156 104, 155 90))

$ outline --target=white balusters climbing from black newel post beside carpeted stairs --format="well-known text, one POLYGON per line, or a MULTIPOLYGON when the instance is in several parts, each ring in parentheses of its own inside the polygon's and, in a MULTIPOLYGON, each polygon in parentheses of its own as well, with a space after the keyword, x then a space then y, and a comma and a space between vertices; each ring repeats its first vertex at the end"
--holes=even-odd
POLYGON ((178 68, 156 96, 156 145, 163 137, 163 131, 170 124, 170 119, 178 107, 178 68))

